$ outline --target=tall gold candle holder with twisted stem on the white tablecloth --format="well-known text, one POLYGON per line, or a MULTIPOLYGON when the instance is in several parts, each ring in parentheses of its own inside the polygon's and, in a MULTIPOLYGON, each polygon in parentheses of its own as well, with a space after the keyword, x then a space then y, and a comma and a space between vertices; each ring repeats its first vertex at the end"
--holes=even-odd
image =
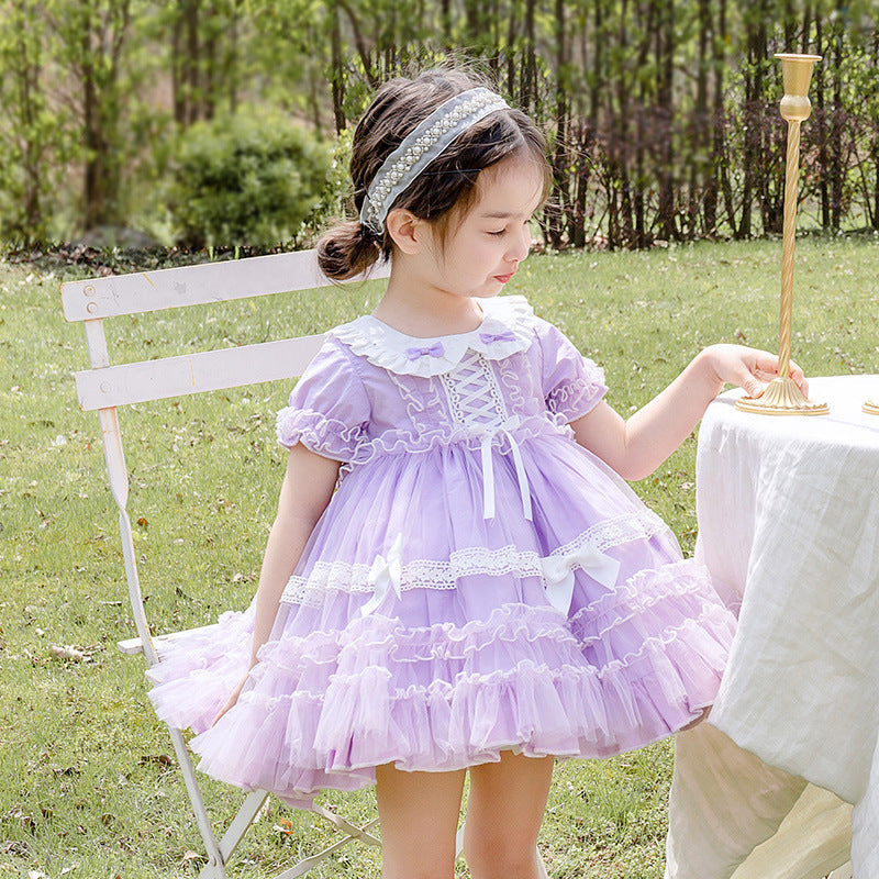
POLYGON ((785 97, 781 116, 788 123, 788 155, 785 167, 785 226, 781 238, 781 315, 778 333, 778 378, 759 397, 742 397, 736 408, 763 415, 824 415, 826 403, 810 400, 790 377, 791 311, 793 303, 793 245, 797 240, 797 188, 800 171, 800 123, 809 119, 809 81, 821 55, 777 54, 781 59, 785 97))

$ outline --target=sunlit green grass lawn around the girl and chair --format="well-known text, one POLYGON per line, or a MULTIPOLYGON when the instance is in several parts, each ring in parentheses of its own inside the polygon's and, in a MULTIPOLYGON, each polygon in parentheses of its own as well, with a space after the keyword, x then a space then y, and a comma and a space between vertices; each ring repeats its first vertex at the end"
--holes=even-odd
MULTIPOLYGON (((534 256, 510 285, 601 363, 610 402, 634 411, 704 345, 774 349, 780 243, 700 244, 648 253, 534 256)), ((804 238, 797 247, 793 356, 809 375, 879 371, 879 241, 804 238)), ((0 879, 191 877, 201 844, 165 727, 148 709, 131 637, 116 516, 96 413, 79 411, 87 364, 60 313, 58 277, 0 263, 0 879), (71 646, 74 658, 53 647, 71 646)), ((120 319, 111 357, 315 332, 370 308, 377 286, 235 307, 120 319)), ((289 388, 131 407, 121 414, 131 513, 147 610, 158 631, 245 605, 283 467, 274 413, 289 388)), ((879 379, 877 380, 879 393, 879 379)), ((636 491, 685 552, 696 534, 691 437, 636 491)), ((550 876, 663 874, 671 745, 559 765, 541 847, 550 876)), ((207 785, 222 823, 237 797, 207 785)), ((371 792, 330 797, 371 814, 371 792)), ((330 838, 277 803, 242 846, 235 877, 268 877, 330 838)), ((349 847, 321 877, 378 877, 349 847)), ((469 874, 461 867, 460 876, 469 874)))

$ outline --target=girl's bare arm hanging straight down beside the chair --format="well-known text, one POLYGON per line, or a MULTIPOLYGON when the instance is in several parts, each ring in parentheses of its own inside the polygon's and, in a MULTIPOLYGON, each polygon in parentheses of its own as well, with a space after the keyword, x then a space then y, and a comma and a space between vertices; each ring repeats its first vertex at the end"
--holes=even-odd
MULTIPOLYGON (((251 647, 251 668, 259 648, 268 641, 278 614, 281 593, 302 555, 314 525, 326 509, 338 477, 340 463, 294 445, 287 458, 287 472, 278 499, 278 513, 268 535, 259 586, 256 590, 256 619, 251 647)), ((214 723, 238 699, 247 677, 235 688, 214 723)))

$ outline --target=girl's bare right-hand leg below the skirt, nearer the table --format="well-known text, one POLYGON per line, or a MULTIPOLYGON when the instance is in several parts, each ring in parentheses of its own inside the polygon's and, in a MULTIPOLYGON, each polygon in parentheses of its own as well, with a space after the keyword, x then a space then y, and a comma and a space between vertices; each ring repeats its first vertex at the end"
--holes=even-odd
POLYGON ((474 879, 536 879, 537 833, 554 757, 501 753, 500 763, 470 768, 464 854, 474 879))

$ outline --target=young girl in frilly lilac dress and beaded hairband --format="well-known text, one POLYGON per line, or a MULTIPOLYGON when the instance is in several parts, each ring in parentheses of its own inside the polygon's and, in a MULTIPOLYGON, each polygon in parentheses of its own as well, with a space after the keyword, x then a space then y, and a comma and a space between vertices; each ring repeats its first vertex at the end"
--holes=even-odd
POLYGON ((360 220, 319 249, 338 279, 392 258, 387 290, 278 415, 289 459, 254 605, 151 672, 212 776, 293 804, 375 781, 388 879, 453 876, 466 770, 472 876, 533 879, 555 758, 698 721, 733 635, 623 479, 724 382, 758 394, 776 358, 710 347, 620 418, 596 364, 498 297, 528 254, 544 146, 464 74, 379 91, 354 135, 360 220))

